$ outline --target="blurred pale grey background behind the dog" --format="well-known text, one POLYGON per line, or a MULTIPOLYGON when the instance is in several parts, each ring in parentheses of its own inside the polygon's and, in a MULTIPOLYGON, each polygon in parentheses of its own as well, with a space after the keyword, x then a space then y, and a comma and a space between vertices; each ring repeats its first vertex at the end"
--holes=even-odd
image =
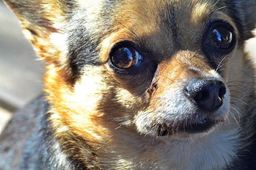
MULTIPOLYGON (((248 40, 246 48, 256 59, 256 38, 248 40)), ((36 60, 18 18, 0 0, 0 133, 12 113, 43 89, 44 62, 36 60)))

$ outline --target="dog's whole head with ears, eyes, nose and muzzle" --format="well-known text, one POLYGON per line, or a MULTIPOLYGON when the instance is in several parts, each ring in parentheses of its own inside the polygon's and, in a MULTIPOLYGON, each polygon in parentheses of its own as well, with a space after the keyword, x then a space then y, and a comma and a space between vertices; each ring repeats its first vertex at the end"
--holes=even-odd
POLYGON ((256 23, 255 0, 5 2, 48 63, 56 132, 89 141, 210 133, 229 115, 230 63, 256 23))

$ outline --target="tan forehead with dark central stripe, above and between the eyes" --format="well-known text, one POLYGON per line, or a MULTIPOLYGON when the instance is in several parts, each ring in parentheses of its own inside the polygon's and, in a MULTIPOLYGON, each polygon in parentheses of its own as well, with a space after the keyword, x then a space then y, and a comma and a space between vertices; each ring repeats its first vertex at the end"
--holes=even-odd
MULTIPOLYGON (((104 9, 102 9, 104 10, 104 9)), ((102 45, 132 40, 154 51, 196 49, 210 20, 232 19, 218 0, 126 0, 102 11, 112 25, 102 45), (189 42, 189 43, 188 43, 189 42)), ((105 19, 105 18, 104 18, 105 19)))

